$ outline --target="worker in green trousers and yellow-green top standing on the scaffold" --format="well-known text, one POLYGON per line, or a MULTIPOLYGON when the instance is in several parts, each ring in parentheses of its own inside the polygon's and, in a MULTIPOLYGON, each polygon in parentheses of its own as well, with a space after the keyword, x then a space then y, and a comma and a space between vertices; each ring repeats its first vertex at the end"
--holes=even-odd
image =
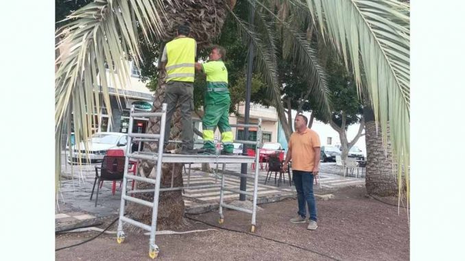
POLYGON ((204 97, 204 117, 202 119, 202 136, 204 147, 199 153, 214 154, 214 133, 218 126, 222 134, 224 155, 233 155, 233 132, 229 125, 229 105, 231 98, 228 90, 228 70, 223 59, 226 58, 224 47, 213 45, 208 62, 195 63, 195 69, 206 74, 206 91, 204 97))

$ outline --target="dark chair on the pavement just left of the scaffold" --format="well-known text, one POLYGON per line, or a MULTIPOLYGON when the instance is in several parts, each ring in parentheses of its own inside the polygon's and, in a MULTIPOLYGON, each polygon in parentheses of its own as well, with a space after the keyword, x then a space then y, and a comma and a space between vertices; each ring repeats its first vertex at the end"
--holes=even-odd
MULTIPOLYGON (((94 194, 95 184, 97 184, 97 179, 100 182, 108 180, 112 182, 116 182, 119 180, 123 180, 124 175, 124 156, 105 156, 104 161, 102 162, 102 166, 98 167, 95 166, 95 181, 94 186, 92 187, 91 193, 91 200, 94 194), (100 173, 99 170, 100 169, 100 173)), ((97 196, 95 197, 95 206, 97 206, 97 201, 99 200, 99 188, 97 186, 97 196)))

